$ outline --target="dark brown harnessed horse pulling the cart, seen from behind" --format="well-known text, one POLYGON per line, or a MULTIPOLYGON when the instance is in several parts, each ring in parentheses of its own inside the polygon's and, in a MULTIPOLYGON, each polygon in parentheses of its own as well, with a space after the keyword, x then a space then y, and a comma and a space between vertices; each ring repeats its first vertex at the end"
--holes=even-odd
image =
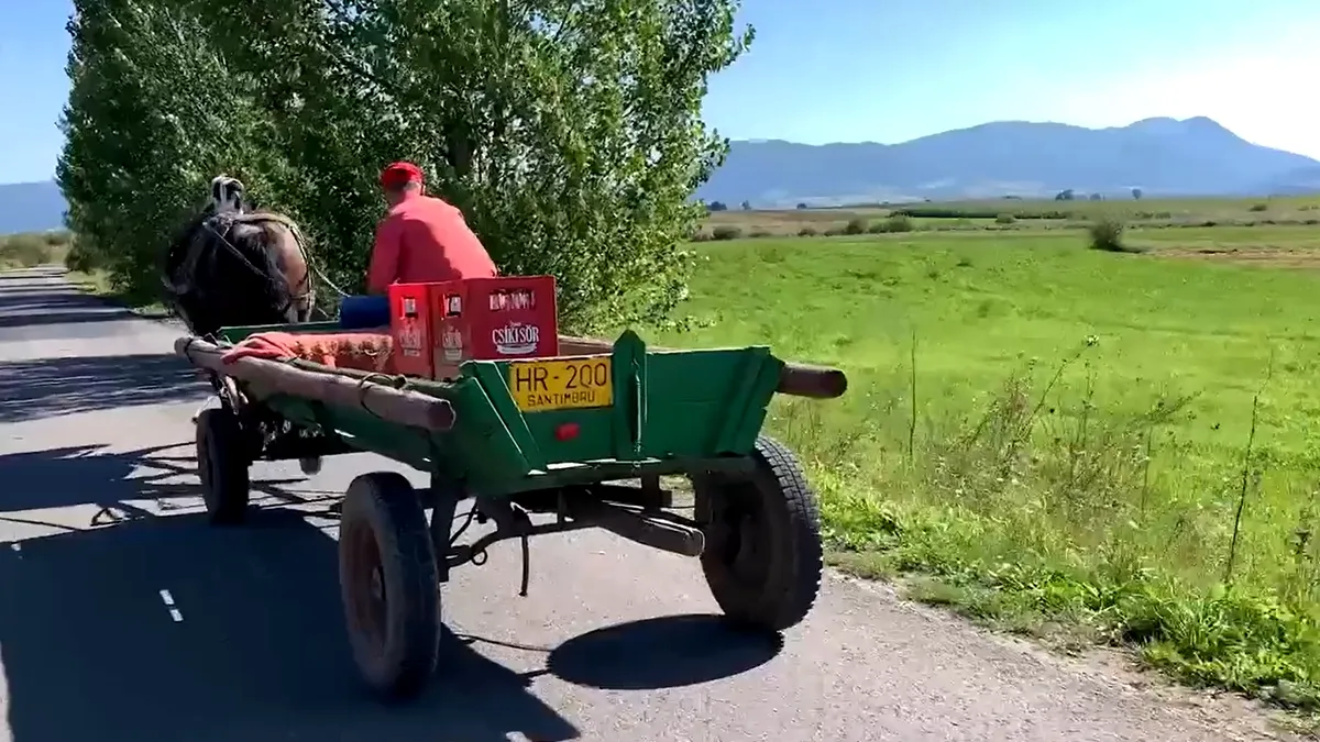
MULTIPOLYGON (((214 337, 235 325, 302 323, 315 309, 306 243, 298 224, 282 214, 252 210, 242 181, 211 180, 210 201, 166 250, 161 268, 165 294, 193 335, 214 337)), ((215 397, 218 375, 209 375, 215 397)), ((319 459, 302 459, 313 474, 319 459)))

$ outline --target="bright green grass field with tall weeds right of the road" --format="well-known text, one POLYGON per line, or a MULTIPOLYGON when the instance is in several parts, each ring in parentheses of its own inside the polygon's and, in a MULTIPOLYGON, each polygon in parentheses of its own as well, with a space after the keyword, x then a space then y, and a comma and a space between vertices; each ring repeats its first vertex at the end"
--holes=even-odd
POLYGON ((843 399, 772 421, 837 564, 1313 708, 1320 227, 1127 242, 1148 252, 1076 230, 705 243, 701 326, 663 342, 850 372, 843 399))

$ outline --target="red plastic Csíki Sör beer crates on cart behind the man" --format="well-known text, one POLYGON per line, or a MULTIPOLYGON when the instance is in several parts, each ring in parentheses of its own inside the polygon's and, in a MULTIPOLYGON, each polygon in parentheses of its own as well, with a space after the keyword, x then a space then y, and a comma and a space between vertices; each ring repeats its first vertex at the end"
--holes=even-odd
POLYGON ((558 355, 553 276, 465 279, 389 287, 400 374, 453 378, 470 359, 558 355))

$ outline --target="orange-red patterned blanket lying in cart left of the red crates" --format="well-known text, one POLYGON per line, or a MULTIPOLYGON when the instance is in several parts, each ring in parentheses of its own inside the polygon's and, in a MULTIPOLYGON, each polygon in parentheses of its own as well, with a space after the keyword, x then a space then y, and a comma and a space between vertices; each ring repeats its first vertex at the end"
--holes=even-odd
POLYGON ((381 333, 256 333, 230 349, 222 360, 234 363, 240 358, 301 358, 331 368, 393 374, 392 351, 392 338, 381 333))

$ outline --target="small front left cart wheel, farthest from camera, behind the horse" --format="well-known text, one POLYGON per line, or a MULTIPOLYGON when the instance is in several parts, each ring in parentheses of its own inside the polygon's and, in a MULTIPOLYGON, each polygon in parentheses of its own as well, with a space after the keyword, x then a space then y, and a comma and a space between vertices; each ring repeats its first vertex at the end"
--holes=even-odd
POLYGON ((215 525, 243 522, 251 481, 247 446, 238 417, 227 408, 203 409, 197 417, 197 470, 206 515, 215 525))

